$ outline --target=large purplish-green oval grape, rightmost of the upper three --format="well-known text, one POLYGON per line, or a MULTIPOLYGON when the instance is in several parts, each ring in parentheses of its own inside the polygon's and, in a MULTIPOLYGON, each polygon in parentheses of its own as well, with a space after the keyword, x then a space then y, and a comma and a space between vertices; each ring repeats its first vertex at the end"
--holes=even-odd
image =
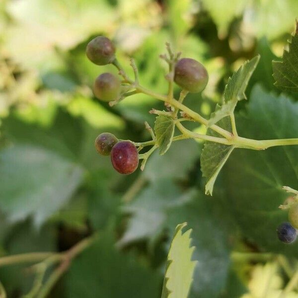
POLYGON ((194 59, 182 58, 175 65, 174 81, 191 93, 204 90, 208 78, 205 67, 194 59))

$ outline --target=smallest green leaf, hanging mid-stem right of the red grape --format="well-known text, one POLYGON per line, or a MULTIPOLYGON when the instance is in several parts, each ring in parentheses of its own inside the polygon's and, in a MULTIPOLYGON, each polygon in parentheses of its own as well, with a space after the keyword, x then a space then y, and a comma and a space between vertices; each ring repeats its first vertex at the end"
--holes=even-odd
POLYGON ((163 155, 171 146, 174 136, 174 120, 169 116, 160 115, 156 117, 154 131, 156 145, 159 147, 159 154, 163 155))

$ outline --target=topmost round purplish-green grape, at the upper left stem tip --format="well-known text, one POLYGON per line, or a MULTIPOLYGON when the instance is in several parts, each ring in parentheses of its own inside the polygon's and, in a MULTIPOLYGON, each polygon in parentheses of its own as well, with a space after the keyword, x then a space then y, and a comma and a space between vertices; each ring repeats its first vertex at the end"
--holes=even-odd
POLYGON ((97 36, 87 44, 86 55, 94 64, 106 65, 115 60, 115 46, 107 37, 97 36))

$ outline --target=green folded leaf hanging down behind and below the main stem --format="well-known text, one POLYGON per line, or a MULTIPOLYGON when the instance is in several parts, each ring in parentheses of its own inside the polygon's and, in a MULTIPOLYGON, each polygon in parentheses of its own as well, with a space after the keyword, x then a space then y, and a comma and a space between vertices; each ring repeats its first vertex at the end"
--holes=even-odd
MULTIPOLYGON (((220 109, 219 106, 216 107, 216 111, 218 109, 220 109)), ((219 126, 227 131, 230 131, 231 124, 229 118, 225 117, 220 120, 219 126)), ((214 137, 221 137, 218 133, 214 132, 211 129, 207 130, 207 134, 214 137)), ((233 149, 234 146, 228 146, 214 142, 206 142, 204 144, 204 148, 201 153, 201 170, 203 173, 203 177, 207 178, 205 187, 206 194, 212 195, 216 178, 233 149)))

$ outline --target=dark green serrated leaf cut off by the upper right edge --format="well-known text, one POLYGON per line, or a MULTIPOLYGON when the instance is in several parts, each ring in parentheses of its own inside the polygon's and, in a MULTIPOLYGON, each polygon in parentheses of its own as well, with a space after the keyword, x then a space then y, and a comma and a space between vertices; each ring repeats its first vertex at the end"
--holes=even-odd
POLYGON ((296 32, 289 41, 289 51, 284 50, 282 61, 272 61, 274 83, 283 91, 298 92, 298 22, 296 32))

